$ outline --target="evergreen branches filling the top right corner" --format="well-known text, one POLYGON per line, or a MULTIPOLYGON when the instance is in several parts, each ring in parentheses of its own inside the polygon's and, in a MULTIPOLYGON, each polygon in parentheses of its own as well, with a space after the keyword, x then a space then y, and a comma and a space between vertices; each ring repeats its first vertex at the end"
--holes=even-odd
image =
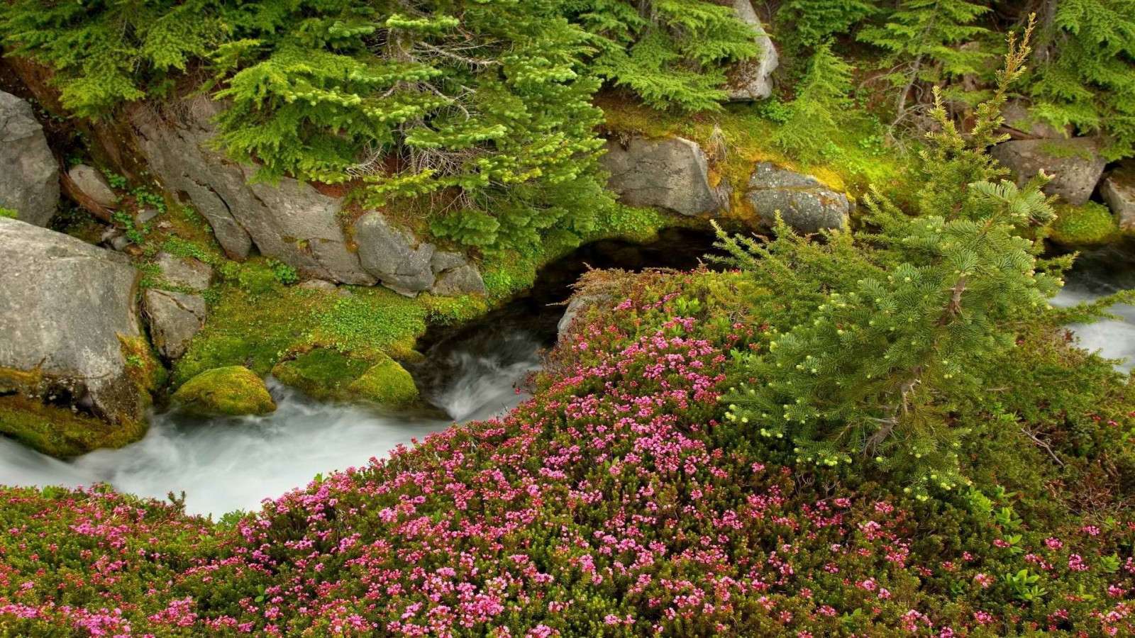
POLYGON ((1034 112, 1105 134, 1110 159, 1135 154, 1135 0, 1060 0, 1046 18, 1034 112))

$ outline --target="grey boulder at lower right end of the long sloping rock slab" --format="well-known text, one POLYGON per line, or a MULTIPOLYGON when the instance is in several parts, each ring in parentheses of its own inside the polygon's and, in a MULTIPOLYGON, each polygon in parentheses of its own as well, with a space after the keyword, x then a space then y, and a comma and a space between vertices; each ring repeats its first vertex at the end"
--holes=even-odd
POLYGON ((436 247, 413 233, 394 227, 381 212, 370 211, 354 224, 362 267, 384 286, 413 296, 434 285, 436 247))

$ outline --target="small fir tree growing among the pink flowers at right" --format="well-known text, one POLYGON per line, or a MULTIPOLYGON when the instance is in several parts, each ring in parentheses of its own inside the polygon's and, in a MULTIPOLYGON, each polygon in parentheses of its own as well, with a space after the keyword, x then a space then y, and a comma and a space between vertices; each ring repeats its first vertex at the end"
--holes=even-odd
POLYGON ((978 386, 976 370, 1014 345, 1008 322, 1046 307, 1059 286, 1037 272, 1040 242, 1022 236, 1053 213, 1041 179, 1018 190, 987 181, 997 175, 990 168, 968 186, 955 183, 947 201, 933 176, 973 168, 1027 52, 1027 33, 1020 47, 1010 37, 976 136, 964 138, 941 103, 935 108, 942 131, 924 160, 947 163, 923 166, 930 178, 919 199, 941 208, 911 217, 876 193, 866 220, 876 232, 833 234, 825 245, 784 224, 768 245, 721 235, 731 262, 758 285, 804 293, 787 313, 792 327, 774 330, 767 352, 746 355, 747 376, 757 381, 728 393, 728 419, 791 440, 800 463, 839 465, 863 455, 909 472, 922 497, 967 481, 955 452, 964 431, 951 425, 948 401, 978 386))

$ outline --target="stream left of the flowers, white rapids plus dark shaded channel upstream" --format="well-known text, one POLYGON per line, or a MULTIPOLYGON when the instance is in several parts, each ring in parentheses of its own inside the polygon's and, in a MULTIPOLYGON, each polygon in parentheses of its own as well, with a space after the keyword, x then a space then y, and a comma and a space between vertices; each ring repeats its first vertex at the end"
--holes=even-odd
POLYGON ((555 341, 563 307, 588 267, 688 269, 712 235, 673 229, 650 245, 597 242, 549 266, 531 293, 461 328, 422 339, 423 362, 409 366, 432 410, 381 412, 322 403, 269 379, 277 410, 263 417, 191 419, 155 413, 137 443, 59 461, 0 437, 0 485, 79 486, 109 482, 121 492, 165 498, 185 492, 191 513, 219 517, 255 510, 264 498, 305 486, 320 472, 364 465, 413 438, 453 422, 503 414, 527 395, 523 381, 555 341))

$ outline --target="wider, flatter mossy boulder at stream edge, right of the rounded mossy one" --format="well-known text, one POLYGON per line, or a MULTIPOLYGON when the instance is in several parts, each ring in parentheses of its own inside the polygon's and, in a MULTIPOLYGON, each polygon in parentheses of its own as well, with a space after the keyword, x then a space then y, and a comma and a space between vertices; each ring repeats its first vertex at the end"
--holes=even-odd
POLYGON ((280 383, 321 401, 373 401, 400 406, 418 400, 410 372, 388 356, 378 363, 316 349, 272 368, 280 383))

